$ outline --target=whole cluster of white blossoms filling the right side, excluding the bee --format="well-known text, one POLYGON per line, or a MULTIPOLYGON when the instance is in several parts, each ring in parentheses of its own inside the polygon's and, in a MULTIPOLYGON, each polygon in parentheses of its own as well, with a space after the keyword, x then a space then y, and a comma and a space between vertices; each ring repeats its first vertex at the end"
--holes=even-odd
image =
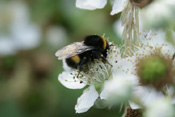
MULTIPOLYGON (((107 0, 76 0, 78 8, 88 10, 106 4, 107 0)), ((175 26, 170 27, 175 1, 115 0, 112 4, 111 15, 122 12, 120 29, 125 41, 123 46, 110 47, 106 59, 112 66, 94 60, 77 77, 79 71, 63 61, 64 71, 58 76, 67 88, 87 87, 77 100, 76 113, 105 101, 105 108, 126 105, 124 116, 131 112, 128 108, 141 109, 145 117, 175 116, 175 26)))

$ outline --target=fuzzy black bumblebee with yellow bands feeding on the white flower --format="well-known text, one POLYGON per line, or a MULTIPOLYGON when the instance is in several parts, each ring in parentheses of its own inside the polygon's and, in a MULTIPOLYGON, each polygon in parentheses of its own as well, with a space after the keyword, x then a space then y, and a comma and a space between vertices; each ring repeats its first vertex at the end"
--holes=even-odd
POLYGON ((55 55, 59 60, 66 59, 66 63, 73 69, 83 70, 83 67, 94 59, 106 60, 109 50, 108 41, 98 35, 85 37, 82 42, 74 42, 58 50, 55 55))

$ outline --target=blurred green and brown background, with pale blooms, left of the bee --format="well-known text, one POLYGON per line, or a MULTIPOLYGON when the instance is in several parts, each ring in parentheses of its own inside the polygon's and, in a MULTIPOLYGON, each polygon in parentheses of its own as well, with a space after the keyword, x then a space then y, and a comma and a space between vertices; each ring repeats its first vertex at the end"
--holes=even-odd
POLYGON ((114 30, 119 15, 111 5, 88 11, 75 0, 0 0, 0 117, 116 117, 119 109, 91 108, 76 114, 84 89, 58 82, 63 71, 55 52, 86 35, 106 34, 121 43, 114 30))

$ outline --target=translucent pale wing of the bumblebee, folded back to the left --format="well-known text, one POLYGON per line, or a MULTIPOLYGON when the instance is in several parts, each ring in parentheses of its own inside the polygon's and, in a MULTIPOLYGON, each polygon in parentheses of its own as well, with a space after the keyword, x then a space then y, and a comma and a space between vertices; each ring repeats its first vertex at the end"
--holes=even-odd
POLYGON ((86 46, 83 42, 75 42, 58 50, 55 56, 57 56, 59 60, 62 60, 92 49, 94 49, 93 46, 86 46))

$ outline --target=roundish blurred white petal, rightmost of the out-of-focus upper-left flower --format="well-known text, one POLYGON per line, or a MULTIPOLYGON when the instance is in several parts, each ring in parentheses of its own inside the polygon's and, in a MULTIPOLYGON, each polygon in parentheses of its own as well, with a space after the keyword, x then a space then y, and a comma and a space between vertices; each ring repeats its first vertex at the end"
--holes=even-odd
POLYGON ((39 27, 34 24, 18 24, 12 26, 12 35, 19 49, 32 49, 37 47, 41 41, 39 27))

